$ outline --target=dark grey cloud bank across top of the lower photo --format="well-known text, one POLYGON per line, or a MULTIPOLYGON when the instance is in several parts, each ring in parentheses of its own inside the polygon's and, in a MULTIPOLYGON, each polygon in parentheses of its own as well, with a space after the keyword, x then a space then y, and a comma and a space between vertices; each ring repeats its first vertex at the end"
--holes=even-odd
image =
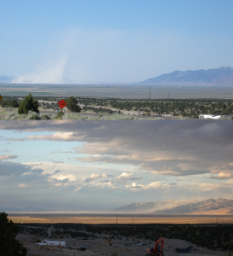
POLYGON ((217 165, 224 168, 233 150, 230 121, 1 121, 0 128, 54 131, 20 139, 81 141, 84 146, 77 153, 89 156, 77 160, 141 166, 166 175, 202 174, 217 165))

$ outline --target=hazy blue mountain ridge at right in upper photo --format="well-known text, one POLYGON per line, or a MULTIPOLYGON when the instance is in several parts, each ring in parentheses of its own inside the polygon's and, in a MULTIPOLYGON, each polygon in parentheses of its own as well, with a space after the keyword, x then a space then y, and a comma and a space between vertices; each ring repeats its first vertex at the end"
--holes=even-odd
POLYGON ((147 79, 139 84, 233 86, 233 68, 219 67, 207 70, 174 71, 147 79))

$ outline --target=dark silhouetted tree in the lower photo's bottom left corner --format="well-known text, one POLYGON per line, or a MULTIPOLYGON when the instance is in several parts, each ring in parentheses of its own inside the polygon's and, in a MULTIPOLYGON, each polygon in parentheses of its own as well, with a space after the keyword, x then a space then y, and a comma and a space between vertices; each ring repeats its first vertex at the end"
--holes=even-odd
POLYGON ((0 212, 0 253, 1 256, 26 256, 27 249, 15 239, 17 227, 8 214, 0 212))

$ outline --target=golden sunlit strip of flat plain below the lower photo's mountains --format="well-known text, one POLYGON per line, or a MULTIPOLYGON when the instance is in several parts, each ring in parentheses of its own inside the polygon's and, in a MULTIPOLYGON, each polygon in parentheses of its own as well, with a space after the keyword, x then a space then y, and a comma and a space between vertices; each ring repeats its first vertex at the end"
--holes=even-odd
POLYGON ((82 223, 82 224, 233 224, 233 216, 219 216, 219 217, 96 217, 96 216, 30 216, 21 215, 14 216, 9 214, 9 218, 14 223, 82 223))

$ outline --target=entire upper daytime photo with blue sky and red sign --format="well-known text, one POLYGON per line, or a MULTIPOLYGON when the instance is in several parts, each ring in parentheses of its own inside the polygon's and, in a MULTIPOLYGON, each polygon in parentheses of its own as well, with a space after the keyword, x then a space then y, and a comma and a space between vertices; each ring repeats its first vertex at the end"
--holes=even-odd
POLYGON ((0 119, 232 119, 230 0, 1 2, 0 119))

